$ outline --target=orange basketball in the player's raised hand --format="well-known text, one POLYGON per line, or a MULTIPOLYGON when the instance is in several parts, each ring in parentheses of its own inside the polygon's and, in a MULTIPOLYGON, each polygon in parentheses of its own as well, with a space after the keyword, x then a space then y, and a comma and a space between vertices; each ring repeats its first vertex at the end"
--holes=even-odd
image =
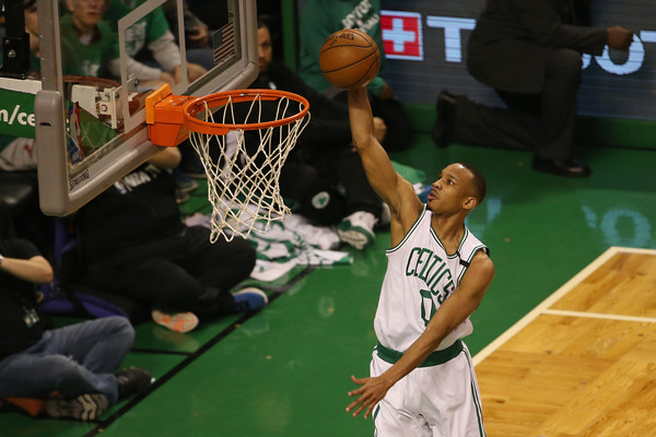
POLYGON ((365 86, 380 67, 378 46, 362 31, 344 28, 330 35, 319 52, 324 76, 339 88, 365 86))

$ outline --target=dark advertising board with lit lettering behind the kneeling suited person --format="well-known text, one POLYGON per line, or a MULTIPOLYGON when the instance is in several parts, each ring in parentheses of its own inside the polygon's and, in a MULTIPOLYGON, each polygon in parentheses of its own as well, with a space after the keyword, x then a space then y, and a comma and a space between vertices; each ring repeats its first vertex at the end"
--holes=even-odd
MULTIPOLYGON (((387 68, 382 73, 407 104, 434 105, 442 90, 503 105, 469 75, 467 42, 484 0, 382 0, 387 68)), ((656 120, 656 2, 593 2, 593 26, 621 25, 634 33, 629 54, 583 56, 578 114, 656 120)))

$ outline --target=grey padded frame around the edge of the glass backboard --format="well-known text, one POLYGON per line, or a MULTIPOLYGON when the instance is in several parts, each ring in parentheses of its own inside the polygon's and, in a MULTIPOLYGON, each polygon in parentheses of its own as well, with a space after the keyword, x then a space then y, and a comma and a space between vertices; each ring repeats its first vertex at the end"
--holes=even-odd
MULTIPOLYGON (((118 22, 121 50, 121 86, 119 101, 128 102, 128 74, 125 54, 125 29, 140 15, 152 11, 165 0, 147 0, 118 22)), ((124 127, 107 144, 82 162, 71 162, 67 138, 65 82, 62 74, 59 2, 37 0, 42 90, 35 98, 35 134, 37 142, 37 173, 40 209, 45 214, 65 216, 73 213, 98 196, 116 180, 141 165, 159 151, 148 140, 145 110, 130 114, 128 105, 117 107, 122 113, 124 127)), ((227 0, 229 21, 233 20, 236 34, 234 58, 220 61, 194 83, 186 80, 174 87, 179 95, 200 96, 213 92, 247 87, 258 73, 256 0, 227 0)), ((178 32, 184 34, 181 0, 177 0, 178 32)), ((179 45, 183 71, 186 71, 186 48, 179 45)), ((185 75, 185 74, 184 74, 185 75)), ((70 135, 70 134, 69 134, 70 135)))

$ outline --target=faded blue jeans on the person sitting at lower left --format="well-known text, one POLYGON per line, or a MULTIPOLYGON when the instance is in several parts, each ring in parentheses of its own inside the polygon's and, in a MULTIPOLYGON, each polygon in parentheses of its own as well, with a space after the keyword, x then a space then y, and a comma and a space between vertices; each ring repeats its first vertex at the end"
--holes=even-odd
POLYGON ((0 361, 0 397, 102 393, 115 403, 114 371, 133 340, 134 329, 119 316, 46 331, 36 344, 0 361))

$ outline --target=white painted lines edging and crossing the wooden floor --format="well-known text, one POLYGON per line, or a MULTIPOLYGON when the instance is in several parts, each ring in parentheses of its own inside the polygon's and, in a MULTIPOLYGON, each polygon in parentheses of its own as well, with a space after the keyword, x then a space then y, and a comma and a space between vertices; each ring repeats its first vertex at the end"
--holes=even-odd
MULTIPOLYGON (((575 311, 557 311, 549 309, 549 307, 554 304, 558 299, 566 295, 578 285, 583 280, 590 275, 595 270, 600 268, 606 261, 611 259, 616 253, 619 252, 631 252, 631 253, 648 253, 656 255, 656 250, 653 249, 634 249, 629 247, 610 247, 604 253, 599 256, 596 260, 589 263, 585 269, 581 272, 576 273, 570 281, 567 281, 563 286, 557 290, 551 296, 547 297, 542 300, 537 307, 535 307, 530 312, 524 316, 519 321, 508 328, 503 334, 499 335, 494 339, 490 344, 488 344, 481 352, 476 354, 472 358, 473 365, 477 366, 488 356, 490 356, 494 351, 501 347, 504 343, 511 340, 517 332, 524 329, 527 324, 538 318, 538 316, 542 314, 555 314, 555 312, 569 312, 567 316, 579 316, 579 317, 593 317, 589 312, 575 312, 575 311)), ((618 320, 635 320, 635 321, 647 321, 647 322, 656 322, 656 319, 649 318, 626 318, 624 316, 614 316, 614 315, 594 315, 596 317, 604 317, 607 319, 618 319, 618 320), (637 319, 637 320, 636 320, 637 319)))

